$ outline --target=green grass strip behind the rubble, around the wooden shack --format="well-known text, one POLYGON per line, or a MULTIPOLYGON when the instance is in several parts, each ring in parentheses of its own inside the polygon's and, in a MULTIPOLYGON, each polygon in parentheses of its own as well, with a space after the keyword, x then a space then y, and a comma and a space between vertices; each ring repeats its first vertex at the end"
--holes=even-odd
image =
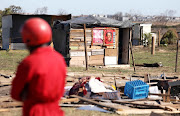
MULTIPOLYGON (((174 73, 175 71, 175 59, 176 59, 176 46, 159 47, 156 48, 155 55, 151 55, 151 48, 136 48, 133 47, 133 54, 135 59, 135 64, 143 63, 159 63, 162 62, 163 67, 159 68, 144 68, 136 67, 136 72, 140 73, 174 73)), ((0 51, 0 70, 15 72, 19 62, 28 55, 27 50, 10 50, 9 52, 5 50, 0 51)), ((179 56, 180 57, 180 53, 179 56)), ((132 60, 130 60, 132 64, 132 60)), ((87 72, 87 73, 133 73, 133 68, 120 69, 120 68, 99 68, 99 67, 89 67, 88 71, 85 71, 85 67, 68 67, 69 72, 87 72)), ((180 62, 178 62, 178 73, 180 74, 180 62)))

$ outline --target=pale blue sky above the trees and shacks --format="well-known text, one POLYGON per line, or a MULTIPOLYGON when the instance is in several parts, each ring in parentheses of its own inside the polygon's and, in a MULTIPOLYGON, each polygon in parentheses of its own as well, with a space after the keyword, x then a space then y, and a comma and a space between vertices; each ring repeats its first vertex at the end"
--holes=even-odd
POLYGON ((26 13, 34 13, 37 8, 48 7, 48 14, 115 14, 117 12, 160 15, 166 10, 174 10, 180 17, 180 0, 0 0, 0 10, 10 5, 20 6, 26 13))

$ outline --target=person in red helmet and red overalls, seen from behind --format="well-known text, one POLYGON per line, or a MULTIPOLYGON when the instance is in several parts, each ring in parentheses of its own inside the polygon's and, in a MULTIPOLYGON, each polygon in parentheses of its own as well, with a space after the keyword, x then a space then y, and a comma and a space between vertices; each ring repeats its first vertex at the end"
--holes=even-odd
POLYGON ((63 116, 58 103, 64 93, 66 64, 63 56, 48 46, 51 27, 41 18, 31 18, 21 35, 30 55, 17 68, 12 98, 23 102, 23 116, 63 116))

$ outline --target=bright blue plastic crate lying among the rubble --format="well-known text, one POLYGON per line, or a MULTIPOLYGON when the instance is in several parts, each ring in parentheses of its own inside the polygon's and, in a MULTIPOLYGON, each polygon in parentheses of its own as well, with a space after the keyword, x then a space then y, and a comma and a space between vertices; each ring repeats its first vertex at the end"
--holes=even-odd
POLYGON ((126 82, 124 94, 131 99, 143 99, 148 96, 149 85, 141 80, 126 82))

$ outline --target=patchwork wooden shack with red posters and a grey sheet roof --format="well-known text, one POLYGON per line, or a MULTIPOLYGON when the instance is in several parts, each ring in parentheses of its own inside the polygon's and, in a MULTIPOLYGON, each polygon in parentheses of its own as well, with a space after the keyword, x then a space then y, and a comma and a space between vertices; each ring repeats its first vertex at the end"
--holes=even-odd
MULTIPOLYGON (((132 23, 87 16, 59 22, 53 29, 55 46, 58 46, 63 40, 60 33, 66 33, 65 38, 70 43, 68 46, 70 47, 70 54, 67 55, 71 59, 70 66, 85 66, 84 24, 86 24, 88 65, 129 64, 129 41, 131 40, 132 23), (57 42, 58 40, 59 42, 57 42)), ((61 51, 58 47, 55 49, 61 51)))

